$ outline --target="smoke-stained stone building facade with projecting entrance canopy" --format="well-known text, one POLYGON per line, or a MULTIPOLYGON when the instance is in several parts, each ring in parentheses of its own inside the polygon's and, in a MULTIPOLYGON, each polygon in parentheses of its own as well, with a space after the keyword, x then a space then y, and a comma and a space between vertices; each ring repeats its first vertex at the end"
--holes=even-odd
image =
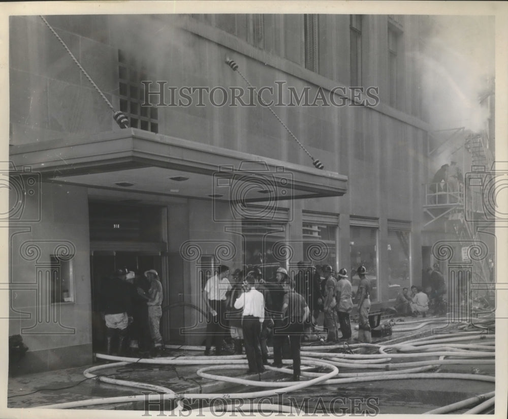
POLYGON ((91 362, 116 267, 160 272, 163 336, 189 344, 217 263, 263 263, 266 278, 364 264, 374 309, 421 283, 428 17, 45 19, 10 19, 10 171, 28 191, 10 195, 20 372, 91 362))

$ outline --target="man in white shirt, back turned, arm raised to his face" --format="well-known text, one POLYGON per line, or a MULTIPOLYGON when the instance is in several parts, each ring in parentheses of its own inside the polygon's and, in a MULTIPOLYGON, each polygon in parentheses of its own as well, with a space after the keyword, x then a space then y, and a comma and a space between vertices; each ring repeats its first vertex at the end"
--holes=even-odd
POLYGON ((256 279, 248 275, 244 281, 246 291, 235 301, 235 309, 243 307, 242 329, 245 354, 249 363, 248 374, 265 371, 261 355, 261 324, 265 320, 265 298, 256 289, 256 279))

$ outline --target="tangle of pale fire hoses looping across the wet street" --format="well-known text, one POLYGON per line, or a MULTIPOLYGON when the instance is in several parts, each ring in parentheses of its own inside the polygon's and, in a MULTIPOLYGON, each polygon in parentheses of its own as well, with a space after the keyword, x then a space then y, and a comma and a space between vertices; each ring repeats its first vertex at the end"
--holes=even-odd
MULTIPOLYGON (((494 364, 494 352, 490 339, 494 339, 494 335, 486 334, 485 332, 464 333, 448 335, 446 338, 441 336, 430 336, 427 338, 414 339, 412 341, 403 342, 400 344, 392 345, 375 345, 375 344, 353 344, 350 348, 369 347, 376 349, 378 353, 372 354, 357 354, 357 353, 337 353, 337 352, 324 352, 314 350, 301 351, 302 367, 312 367, 319 369, 326 369, 328 372, 313 372, 306 371, 308 368, 302 370, 303 377, 311 377, 306 381, 268 381, 262 379, 259 375, 259 380, 245 379, 241 377, 230 377, 224 375, 211 374, 208 371, 213 370, 238 370, 246 367, 247 360, 244 355, 230 355, 230 356, 175 356, 166 358, 155 359, 139 359, 131 357, 118 357, 112 355, 96 354, 98 358, 110 361, 119 361, 115 364, 104 364, 95 366, 85 370, 85 377, 99 379, 104 382, 119 384, 123 386, 136 387, 143 390, 152 390, 164 394, 142 394, 121 397, 108 397, 97 398, 82 401, 73 401, 67 403, 57 403, 46 406, 38 406, 38 408, 76 408, 93 405, 125 403, 125 402, 161 402, 162 400, 176 400, 176 409, 182 409, 180 400, 183 398, 188 399, 209 399, 220 396, 224 400, 231 400, 233 398, 260 398, 264 396, 273 396, 281 393, 290 393, 313 385, 328 385, 328 384, 347 384, 355 382, 367 381, 381 381, 381 380, 396 380, 396 379, 465 379, 476 380, 485 382, 495 382, 495 378, 490 375, 482 374, 461 374, 461 373, 444 373, 444 372, 428 372, 440 365, 486 365, 494 364), (464 339, 477 340, 482 339, 482 345, 468 345, 472 350, 466 350, 463 343, 464 339), (439 344, 440 343, 440 344, 439 344), (448 348, 448 350, 442 350, 448 348), (400 353, 394 352, 397 350, 411 350, 420 352, 400 353), (431 350, 431 352, 427 352, 431 350), (393 352, 393 353, 392 353, 393 352), (413 362, 393 362, 405 358, 417 357, 431 358, 437 356, 439 359, 428 359, 424 361, 413 362), (446 359, 445 359, 446 358, 446 359), (491 359, 489 359, 491 358, 491 359), (108 378, 101 375, 94 375, 102 369, 108 369, 117 366, 124 366, 128 364, 155 364, 155 365, 203 365, 197 371, 198 376, 203 378, 212 379, 216 381, 234 382, 242 385, 249 385, 255 387, 272 387, 269 390, 258 390, 248 393, 233 393, 233 394, 175 394, 171 389, 146 383, 139 383, 135 381, 126 381, 120 379, 108 378), (337 367, 353 368, 353 369, 368 369, 374 371, 357 372, 352 374, 339 374, 337 367), (417 368, 419 367, 419 368, 417 368), (376 369, 383 369, 383 371, 375 371, 376 369), (427 372, 425 372, 427 371, 427 372), (108 379, 106 379, 108 378, 108 379)), ((335 345, 335 348, 341 345, 335 345)), ((308 349, 308 348, 305 348, 308 349)), ((318 349, 324 349, 319 347, 318 349)), ((284 364, 291 364, 291 361, 284 360, 284 364)), ((280 371, 281 373, 292 374, 293 370, 289 368, 274 368, 267 367, 269 370, 280 371)), ((493 400, 493 399, 492 399, 493 400)), ((478 400, 481 402, 482 400, 478 400)), ((489 399, 490 402, 490 399, 489 399)), ((493 403, 493 401, 492 401, 493 403)), ((471 403, 472 404, 472 403, 471 403)), ((483 407, 482 409, 487 408, 483 407)), ((213 408, 213 407, 212 407, 213 408)), ((228 407, 225 407, 228 410, 228 407)), ((253 410, 257 410, 255 407, 253 410)), ((279 405, 272 405, 267 407, 268 410, 273 411, 287 411, 286 407, 279 405)))

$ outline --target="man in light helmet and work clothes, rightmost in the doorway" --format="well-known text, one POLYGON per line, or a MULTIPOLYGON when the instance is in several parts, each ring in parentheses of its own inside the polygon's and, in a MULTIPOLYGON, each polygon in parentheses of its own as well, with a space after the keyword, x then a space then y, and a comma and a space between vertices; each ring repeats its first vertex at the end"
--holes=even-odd
POLYGON ((161 317, 162 317, 162 284, 158 278, 157 271, 150 269, 145 272, 145 277, 150 281, 150 289, 146 294, 141 288, 138 293, 143 296, 148 306, 148 324, 150 326, 150 335, 153 341, 154 356, 160 356, 163 350, 163 341, 161 336, 161 317))

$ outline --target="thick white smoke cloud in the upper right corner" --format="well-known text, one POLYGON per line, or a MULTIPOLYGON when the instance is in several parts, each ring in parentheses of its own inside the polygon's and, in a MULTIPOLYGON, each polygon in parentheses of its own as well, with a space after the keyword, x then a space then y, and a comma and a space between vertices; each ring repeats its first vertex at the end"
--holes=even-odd
POLYGON ((493 16, 431 16, 418 62, 433 129, 478 132, 489 116, 480 98, 495 74, 493 16))

